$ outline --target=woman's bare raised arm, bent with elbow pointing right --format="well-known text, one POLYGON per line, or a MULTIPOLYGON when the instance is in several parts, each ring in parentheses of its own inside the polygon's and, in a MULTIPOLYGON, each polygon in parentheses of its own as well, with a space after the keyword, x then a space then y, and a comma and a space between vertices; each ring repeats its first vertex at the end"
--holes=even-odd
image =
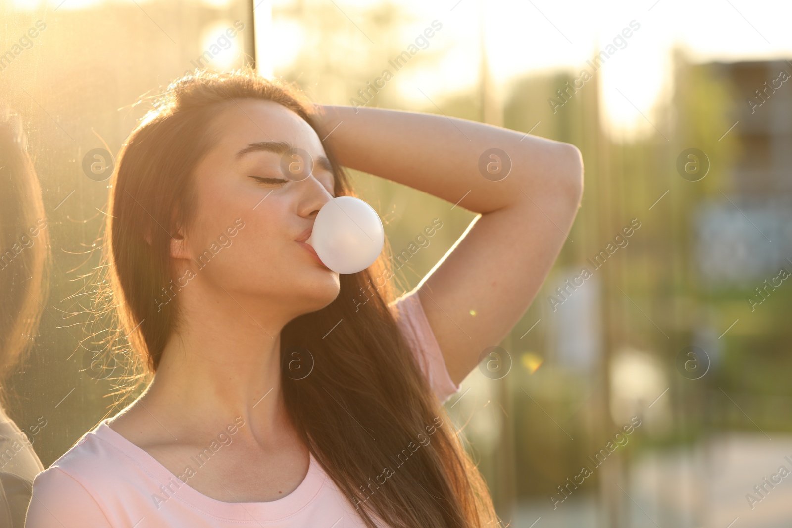
POLYGON ((418 293, 458 384, 520 320, 558 256, 583 192, 580 151, 416 112, 322 106, 317 120, 341 165, 480 214, 418 293))

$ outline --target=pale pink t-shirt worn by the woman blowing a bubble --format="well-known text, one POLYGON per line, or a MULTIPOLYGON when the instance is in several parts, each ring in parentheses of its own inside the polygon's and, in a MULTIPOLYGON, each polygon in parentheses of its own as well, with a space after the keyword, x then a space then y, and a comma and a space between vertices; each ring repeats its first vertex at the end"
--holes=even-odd
MULTIPOLYGON (((417 289, 390 304, 440 401, 459 390, 426 319, 417 289)), ((265 503, 226 503, 190 488, 102 420, 33 481, 27 528, 363 528, 355 508, 310 456, 303 482, 265 503)))

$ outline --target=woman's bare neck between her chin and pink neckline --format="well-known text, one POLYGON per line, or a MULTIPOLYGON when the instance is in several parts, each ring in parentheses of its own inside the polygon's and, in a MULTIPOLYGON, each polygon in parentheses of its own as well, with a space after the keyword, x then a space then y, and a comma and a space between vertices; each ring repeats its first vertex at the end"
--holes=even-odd
POLYGON ((242 416, 265 439, 287 419, 280 386, 287 317, 260 297, 187 290, 180 292, 180 323, 140 401, 162 424, 204 431, 242 416))

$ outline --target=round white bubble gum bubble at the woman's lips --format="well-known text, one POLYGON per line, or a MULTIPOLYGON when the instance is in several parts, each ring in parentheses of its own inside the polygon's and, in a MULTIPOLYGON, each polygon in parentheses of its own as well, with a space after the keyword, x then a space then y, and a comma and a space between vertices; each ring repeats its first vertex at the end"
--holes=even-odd
POLYGON ((306 241, 337 273, 357 273, 374 264, 385 244, 377 211, 353 196, 333 198, 319 210, 306 241))

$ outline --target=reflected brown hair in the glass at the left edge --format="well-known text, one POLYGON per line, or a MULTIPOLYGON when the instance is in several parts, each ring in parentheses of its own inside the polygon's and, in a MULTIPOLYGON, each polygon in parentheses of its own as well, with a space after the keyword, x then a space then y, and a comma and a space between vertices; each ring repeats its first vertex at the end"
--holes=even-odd
POLYGON ((21 116, 0 100, 0 405, 29 350, 48 293, 49 236, 21 116))

